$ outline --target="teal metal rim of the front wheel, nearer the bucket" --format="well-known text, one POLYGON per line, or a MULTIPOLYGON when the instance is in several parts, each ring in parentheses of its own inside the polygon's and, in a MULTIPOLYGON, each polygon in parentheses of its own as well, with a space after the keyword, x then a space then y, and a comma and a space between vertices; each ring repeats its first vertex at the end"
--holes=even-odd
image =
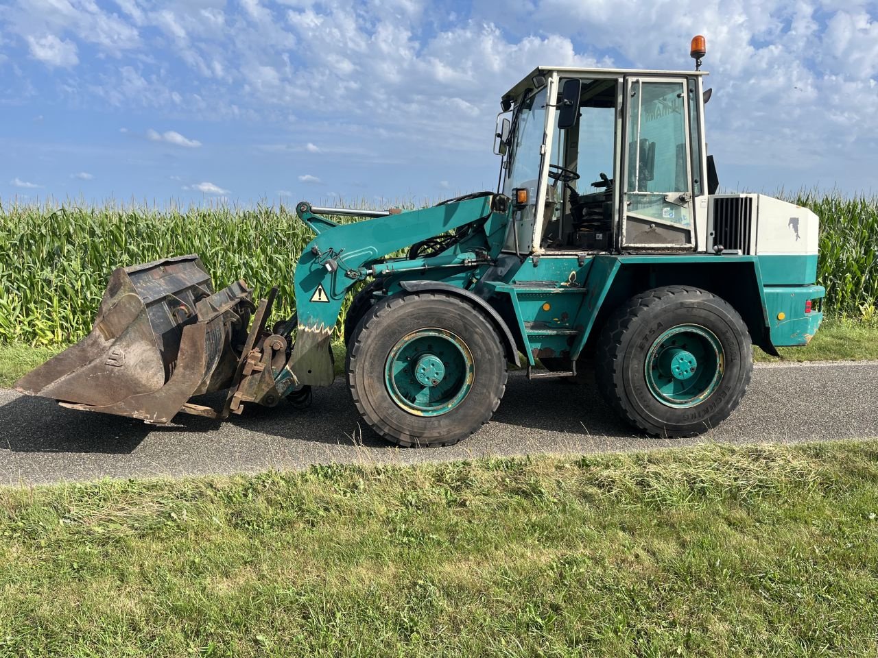
POLYGON ((419 329, 403 336, 385 362, 385 386, 399 407, 416 416, 441 416, 472 389, 475 362, 457 334, 419 329))

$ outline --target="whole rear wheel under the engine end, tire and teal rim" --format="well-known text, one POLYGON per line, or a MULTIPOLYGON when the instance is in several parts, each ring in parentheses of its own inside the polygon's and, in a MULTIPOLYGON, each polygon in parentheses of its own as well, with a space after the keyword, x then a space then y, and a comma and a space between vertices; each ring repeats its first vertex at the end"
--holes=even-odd
POLYGON ((595 375, 631 425, 682 437, 728 418, 752 368, 750 334, 738 311, 705 290, 665 286, 632 297, 608 319, 595 375))

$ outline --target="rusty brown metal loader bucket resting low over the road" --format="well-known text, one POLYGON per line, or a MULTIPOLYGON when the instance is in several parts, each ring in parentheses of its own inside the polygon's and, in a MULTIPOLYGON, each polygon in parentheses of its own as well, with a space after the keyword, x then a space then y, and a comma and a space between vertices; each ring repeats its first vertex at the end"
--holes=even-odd
POLYGON ((195 255, 116 269, 91 333, 16 389, 75 409, 167 423, 193 395, 232 385, 250 295, 243 282, 214 292, 195 255))

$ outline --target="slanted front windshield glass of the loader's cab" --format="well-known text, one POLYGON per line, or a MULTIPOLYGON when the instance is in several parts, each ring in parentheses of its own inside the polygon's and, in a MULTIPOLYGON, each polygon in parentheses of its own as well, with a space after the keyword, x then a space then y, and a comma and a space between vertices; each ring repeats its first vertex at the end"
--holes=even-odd
POLYGON ((537 91, 525 98, 518 121, 512 134, 512 148, 509 157, 512 167, 506 177, 504 193, 511 195, 515 188, 527 188, 530 202, 536 203, 536 180, 540 175, 540 147, 543 146, 543 131, 546 116, 546 89, 537 91))

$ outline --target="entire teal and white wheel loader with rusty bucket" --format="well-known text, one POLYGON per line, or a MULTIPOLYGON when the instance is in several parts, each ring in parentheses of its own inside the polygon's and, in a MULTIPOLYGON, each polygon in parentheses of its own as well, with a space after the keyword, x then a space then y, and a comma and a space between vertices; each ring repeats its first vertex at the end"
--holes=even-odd
POLYGON ((752 346, 806 345, 824 297, 813 212, 717 193, 703 50, 696 37, 694 71, 536 68, 500 99, 497 190, 411 211, 299 203, 314 238, 291 318, 270 324, 276 290, 215 291, 195 255, 119 268, 91 333, 17 388, 159 424, 302 403, 333 383, 358 290, 347 384, 399 446, 479 429, 510 364, 535 380, 594 370, 637 431, 702 433, 744 396, 752 346), (225 401, 191 400, 211 391, 225 401))

